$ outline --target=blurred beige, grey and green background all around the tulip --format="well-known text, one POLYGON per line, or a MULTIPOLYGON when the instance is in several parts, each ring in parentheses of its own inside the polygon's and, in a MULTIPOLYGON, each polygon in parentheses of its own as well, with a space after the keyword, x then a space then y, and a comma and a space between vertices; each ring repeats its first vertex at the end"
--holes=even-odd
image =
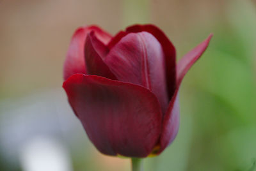
POLYGON ((256 1, 0 1, 0 170, 130 170, 100 154, 67 103, 63 62, 78 26, 152 23, 178 59, 214 37, 180 89, 180 131, 145 170, 256 170, 256 1))

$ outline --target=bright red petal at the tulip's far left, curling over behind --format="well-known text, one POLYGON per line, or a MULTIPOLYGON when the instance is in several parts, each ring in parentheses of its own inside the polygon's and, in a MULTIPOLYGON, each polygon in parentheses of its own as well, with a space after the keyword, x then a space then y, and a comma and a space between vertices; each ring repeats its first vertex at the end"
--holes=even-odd
POLYGON ((67 57, 64 63, 63 74, 64 80, 75 73, 86 73, 84 63, 84 43, 88 33, 95 31, 97 38, 104 44, 111 39, 111 35, 103 31, 97 26, 79 27, 68 47, 67 57))

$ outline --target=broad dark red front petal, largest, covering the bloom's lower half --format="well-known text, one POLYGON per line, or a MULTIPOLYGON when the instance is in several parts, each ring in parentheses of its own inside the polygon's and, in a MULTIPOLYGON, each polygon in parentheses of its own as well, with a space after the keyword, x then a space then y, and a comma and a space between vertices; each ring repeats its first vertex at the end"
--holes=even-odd
POLYGON ((141 158, 152 151, 161 132, 161 111, 148 89, 83 74, 69 77, 63 88, 100 152, 141 158))

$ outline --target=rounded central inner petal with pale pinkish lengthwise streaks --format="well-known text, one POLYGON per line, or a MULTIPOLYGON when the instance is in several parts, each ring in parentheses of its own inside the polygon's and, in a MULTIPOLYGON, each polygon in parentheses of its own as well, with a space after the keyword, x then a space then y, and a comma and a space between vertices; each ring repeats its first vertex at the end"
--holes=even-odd
POLYGON ((143 85, 168 107, 164 53, 159 41, 147 32, 129 33, 111 48, 104 62, 117 80, 143 85))

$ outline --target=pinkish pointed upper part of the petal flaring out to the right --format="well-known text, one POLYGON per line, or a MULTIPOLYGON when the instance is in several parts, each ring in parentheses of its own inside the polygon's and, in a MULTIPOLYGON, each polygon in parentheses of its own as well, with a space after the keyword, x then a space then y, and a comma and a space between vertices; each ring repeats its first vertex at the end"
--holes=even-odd
POLYGON ((210 34, 206 40, 200 43, 197 47, 193 48, 188 54, 180 59, 177 64, 177 86, 179 87, 182 79, 188 72, 189 68, 199 59, 208 47, 213 34, 210 34))

